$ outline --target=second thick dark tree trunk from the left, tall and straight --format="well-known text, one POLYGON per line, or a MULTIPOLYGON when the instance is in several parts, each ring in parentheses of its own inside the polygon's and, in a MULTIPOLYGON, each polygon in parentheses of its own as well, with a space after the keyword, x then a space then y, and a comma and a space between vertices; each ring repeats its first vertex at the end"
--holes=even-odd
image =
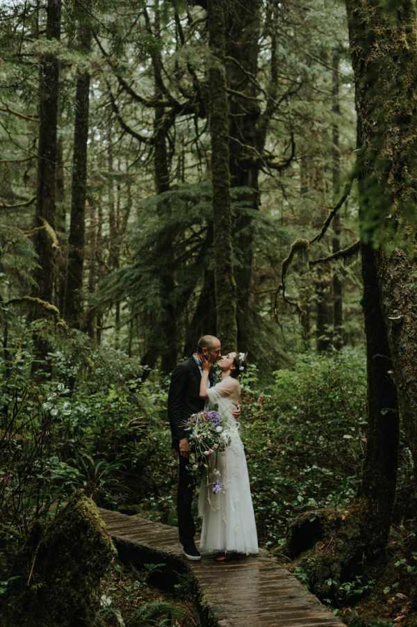
MULTIPOLYGON (((88 53, 91 45, 91 31, 86 11, 90 0, 86 0, 85 8, 76 5, 79 24, 79 49, 88 53)), ((90 95, 90 74, 83 72, 76 81, 76 109, 74 124, 74 154, 72 158, 72 200, 70 236, 68 239, 68 265, 65 282, 65 301, 63 316, 73 326, 81 327, 83 303, 84 267, 84 235, 85 235, 85 197, 87 191, 87 140, 88 140, 88 106, 90 95)))

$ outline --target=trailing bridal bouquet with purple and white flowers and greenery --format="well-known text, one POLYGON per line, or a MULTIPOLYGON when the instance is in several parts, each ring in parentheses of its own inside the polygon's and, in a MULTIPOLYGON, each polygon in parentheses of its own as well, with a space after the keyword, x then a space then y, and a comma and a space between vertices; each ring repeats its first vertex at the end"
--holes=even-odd
MULTIPOLYGON (((208 485, 211 485, 215 494, 224 491, 220 471, 215 469, 215 460, 218 453, 230 444, 229 432, 223 429, 222 422, 222 416, 215 410, 211 410, 192 414, 184 425, 184 429, 190 432, 188 440, 190 446, 195 448, 197 459, 203 459, 204 466, 207 468, 208 485)), ((196 463, 195 469, 197 467, 196 463)))

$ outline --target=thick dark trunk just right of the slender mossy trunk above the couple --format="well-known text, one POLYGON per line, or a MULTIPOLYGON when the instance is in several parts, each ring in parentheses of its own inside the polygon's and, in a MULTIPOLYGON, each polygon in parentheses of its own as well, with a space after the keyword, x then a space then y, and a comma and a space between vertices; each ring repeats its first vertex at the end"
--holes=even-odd
POLYGON ((236 203, 233 230, 234 250, 238 254, 235 267, 237 287, 238 343, 251 345, 250 291, 254 228, 248 208, 259 209, 259 152, 257 122, 260 115, 259 85, 255 80, 258 68, 259 0, 229 0, 226 3, 227 84, 229 93, 229 169, 232 188, 243 188, 236 203))

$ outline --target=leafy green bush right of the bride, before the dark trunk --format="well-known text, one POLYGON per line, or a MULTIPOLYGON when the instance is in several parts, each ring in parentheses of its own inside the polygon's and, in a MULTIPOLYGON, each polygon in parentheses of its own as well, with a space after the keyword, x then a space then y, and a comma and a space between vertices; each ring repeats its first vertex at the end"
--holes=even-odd
POLYGON ((259 535, 284 544, 288 521, 309 508, 354 496, 363 459, 366 373, 363 355, 307 353, 275 382, 247 391, 245 443, 259 535))

